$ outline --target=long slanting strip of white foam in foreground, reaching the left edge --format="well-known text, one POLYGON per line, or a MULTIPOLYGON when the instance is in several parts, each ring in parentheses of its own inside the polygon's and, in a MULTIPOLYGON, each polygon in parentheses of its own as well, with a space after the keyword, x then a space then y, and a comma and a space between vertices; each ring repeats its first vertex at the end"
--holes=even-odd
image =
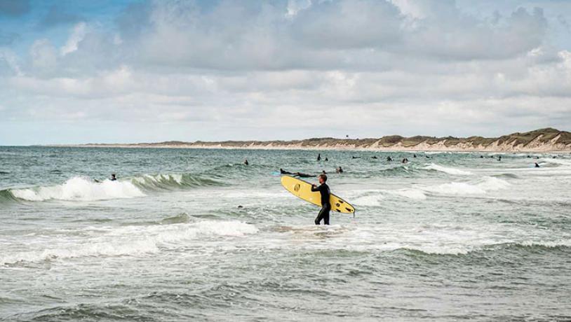
MULTIPOLYGON (((241 237, 255 234, 255 225, 240 221, 200 221, 173 225, 128 226, 98 229, 94 237, 69 239, 51 248, 17 252, 0 257, 0 265, 16 262, 38 262, 55 258, 87 256, 121 256, 157 253, 164 248, 180 246, 181 241, 203 237, 241 237)), ((45 242, 40 245, 46 244, 45 242)))

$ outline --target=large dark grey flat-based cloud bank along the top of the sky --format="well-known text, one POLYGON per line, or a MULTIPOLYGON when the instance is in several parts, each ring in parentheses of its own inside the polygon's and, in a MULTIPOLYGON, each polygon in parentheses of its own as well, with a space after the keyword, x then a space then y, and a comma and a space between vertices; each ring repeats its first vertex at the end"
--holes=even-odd
POLYGON ((481 19, 462 13, 454 1, 419 3, 422 18, 405 16, 387 1, 316 1, 295 15, 287 15, 281 2, 222 1, 203 10, 161 1, 135 6, 120 21, 134 63, 176 69, 382 70, 398 64, 387 62, 387 54, 507 59, 544 44, 547 22, 539 8, 481 19))

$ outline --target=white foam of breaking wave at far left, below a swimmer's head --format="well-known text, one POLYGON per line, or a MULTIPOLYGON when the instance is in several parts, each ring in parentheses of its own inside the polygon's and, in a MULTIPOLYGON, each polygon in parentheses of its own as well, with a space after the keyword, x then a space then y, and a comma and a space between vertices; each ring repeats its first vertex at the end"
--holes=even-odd
POLYGON ((57 186, 14 189, 11 190, 14 197, 29 200, 107 200, 116 198, 142 197, 142 193, 129 181, 105 180, 96 183, 90 179, 76 176, 65 183, 57 186))

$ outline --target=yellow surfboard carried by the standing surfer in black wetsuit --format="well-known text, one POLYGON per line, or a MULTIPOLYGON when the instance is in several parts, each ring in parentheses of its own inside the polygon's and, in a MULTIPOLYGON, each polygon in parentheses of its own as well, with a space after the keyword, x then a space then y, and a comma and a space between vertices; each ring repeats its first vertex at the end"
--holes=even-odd
MULTIPOLYGON (((311 191, 311 183, 293 176, 282 176, 281 185, 296 197, 321 207, 321 195, 318 191, 311 191)), ((332 211, 355 214, 355 207, 336 195, 331 194, 330 204, 332 211)))

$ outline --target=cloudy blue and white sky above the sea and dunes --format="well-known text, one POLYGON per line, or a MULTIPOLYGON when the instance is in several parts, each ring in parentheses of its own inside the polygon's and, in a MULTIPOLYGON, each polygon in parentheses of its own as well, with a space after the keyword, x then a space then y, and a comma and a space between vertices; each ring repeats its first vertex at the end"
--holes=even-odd
POLYGON ((0 0, 0 145, 542 127, 567 0, 0 0))

